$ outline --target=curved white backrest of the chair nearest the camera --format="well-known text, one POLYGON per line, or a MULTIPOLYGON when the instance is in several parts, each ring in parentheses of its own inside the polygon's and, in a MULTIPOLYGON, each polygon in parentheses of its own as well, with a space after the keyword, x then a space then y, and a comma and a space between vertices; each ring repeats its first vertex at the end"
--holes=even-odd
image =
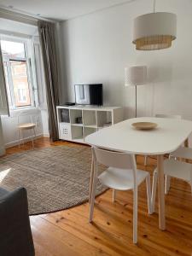
POLYGON ((131 169, 133 172, 137 171, 134 154, 119 153, 96 147, 92 147, 92 151, 96 162, 104 166, 120 169, 131 169))

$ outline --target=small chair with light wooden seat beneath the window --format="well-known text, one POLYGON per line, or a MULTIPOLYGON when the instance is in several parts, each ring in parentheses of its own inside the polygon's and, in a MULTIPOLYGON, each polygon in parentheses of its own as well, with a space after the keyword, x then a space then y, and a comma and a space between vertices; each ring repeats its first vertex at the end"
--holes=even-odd
POLYGON ((32 138, 32 148, 34 149, 34 139, 36 138, 36 132, 35 128, 37 126, 37 122, 32 121, 32 115, 28 115, 26 111, 22 111, 18 115, 17 119, 17 128, 18 128, 18 138, 19 138, 19 148, 20 148, 20 134, 22 135, 22 142, 24 144, 24 137, 23 137, 23 131, 31 131, 31 138, 32 138), (26 119, 29 119, 29 122, 22 122, 22 118, 25 117, 26 119))

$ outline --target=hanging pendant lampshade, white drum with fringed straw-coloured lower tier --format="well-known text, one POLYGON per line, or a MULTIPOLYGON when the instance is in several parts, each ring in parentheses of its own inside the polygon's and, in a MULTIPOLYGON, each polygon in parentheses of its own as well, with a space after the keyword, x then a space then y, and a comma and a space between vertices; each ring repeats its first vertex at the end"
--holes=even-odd
POLYGON ((158 12, 138 16, 134 20, 133 44, 136 49, 166 49, 172 46, 176 38, 177 16, 158 12))

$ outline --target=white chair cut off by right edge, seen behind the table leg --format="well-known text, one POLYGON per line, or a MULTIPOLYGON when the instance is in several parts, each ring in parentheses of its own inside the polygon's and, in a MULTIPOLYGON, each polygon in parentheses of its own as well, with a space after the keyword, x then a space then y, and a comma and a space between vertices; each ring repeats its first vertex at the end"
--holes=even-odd
MULTIPOLYGON (((192 165, 189 163, 185 163, 182 161, 177 161, 174 159, 169 159, 164 161, 164 173, 168 177, 177 177, 181 178, 184 181, 188 182, 191 186, 191 193, 192 193, 192 165)), ((154 177, 153 177, 153 186, 152 186, 152 211, 154 212, 154 205, 155 205, 155 196, 156 196, 156 187, 157 187, 157 169, 154 170, 154 177)), ((167 188, 168 193, 169 188, 167 188)))

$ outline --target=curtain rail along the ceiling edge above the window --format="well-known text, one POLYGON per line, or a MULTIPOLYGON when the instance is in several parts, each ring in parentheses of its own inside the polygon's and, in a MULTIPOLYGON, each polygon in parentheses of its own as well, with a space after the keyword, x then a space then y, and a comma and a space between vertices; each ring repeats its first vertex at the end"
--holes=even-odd
POLYGON ((15 20, 19 22, 23 22, 32 26, 38 26, 38 20, 45 20, 51 23, 56 23, 59 20, 49 20, 42 17, 37 17, 35 15, 29 15, 19 10, 12 11, 8 8, 2 8, 0 5, 0 18, 8 19, 8 20, 15 20))

